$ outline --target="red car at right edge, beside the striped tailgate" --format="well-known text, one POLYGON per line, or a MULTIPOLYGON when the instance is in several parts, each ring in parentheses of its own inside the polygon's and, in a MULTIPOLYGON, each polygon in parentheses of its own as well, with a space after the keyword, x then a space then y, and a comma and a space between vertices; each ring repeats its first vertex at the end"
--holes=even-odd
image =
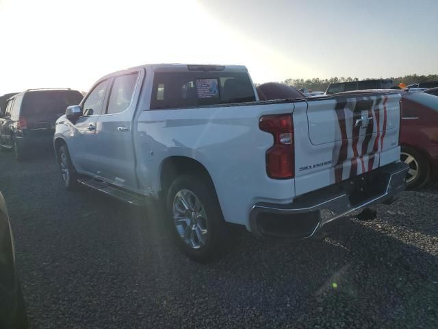
POLYGON ((438 174, 438 97, 404 93, 401 108, 401 159, 409 164, 407 186, 417 188, 438 174))

